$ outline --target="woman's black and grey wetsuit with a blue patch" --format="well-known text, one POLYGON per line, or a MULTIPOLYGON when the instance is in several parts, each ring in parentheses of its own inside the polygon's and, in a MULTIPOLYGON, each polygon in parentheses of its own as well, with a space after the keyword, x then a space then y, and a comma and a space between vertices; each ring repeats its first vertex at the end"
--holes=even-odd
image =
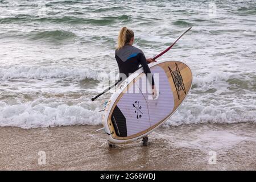
MULTIPOLYGON (((115 50, 115 59, 117 60, 119 73, 125 74, 126 77, 128 77, 129 74, 137 71, 140 64, 142 65, 146 76, 148 73, 151 74, 144 53, 141 51, 141 49, 134 46, 125 45, 121 49, 115 50)), ((148 80, 151 82, 151 79, 148 80)), ((153 76, 152 85, 155 85, 153 76)))

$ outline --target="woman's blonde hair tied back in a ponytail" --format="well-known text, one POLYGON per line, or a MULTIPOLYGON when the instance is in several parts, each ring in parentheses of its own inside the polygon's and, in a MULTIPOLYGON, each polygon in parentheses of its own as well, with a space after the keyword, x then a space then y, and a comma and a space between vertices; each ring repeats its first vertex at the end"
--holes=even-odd
POLYGON ((117 40, 117 49, 122 48, 125 44, 129 43, 131 38, 134 37, 134 32, 126 27, 122 27, 119 31, 117 40))

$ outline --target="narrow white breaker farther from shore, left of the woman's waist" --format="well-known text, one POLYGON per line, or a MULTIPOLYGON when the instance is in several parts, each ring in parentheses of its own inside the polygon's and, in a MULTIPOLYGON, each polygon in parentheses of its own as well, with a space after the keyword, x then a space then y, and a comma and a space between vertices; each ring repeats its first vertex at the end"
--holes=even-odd
POLYGON ((84 80, 92 78, 102 81, 108 78, 108 73, 97 71, 90 68, 56 68, 56 67, 11 67, 0 68, 0 80, 10 80, 14 78, 28 79, 49 79, 49 78, 65 78, 72 80, 84 80))

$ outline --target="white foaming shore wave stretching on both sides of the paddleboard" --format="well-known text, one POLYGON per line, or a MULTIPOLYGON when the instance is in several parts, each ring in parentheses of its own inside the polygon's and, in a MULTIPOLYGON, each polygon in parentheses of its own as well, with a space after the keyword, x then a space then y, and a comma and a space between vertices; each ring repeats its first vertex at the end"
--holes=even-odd
MULTIPOLYGON (((90 102, 90 101, 89 101, 90 102)), ((35 100, 23 104, 7 105, 0 101, 0 127, 21 127, 23 129, 37 127, 56 127, 73 125, 101 125, 101 113, 95 104, 92 108, 86 104, 67 105, 55 103, 44 104, 35 100), (83 106, 81 106, 83 105, 83 106), (86 106, 86 107, 84 107, 86 106)), ((199 123, 256 123, 256 101, 248 100, 243 104, 205 106, 201 101, 186 101, 165 123, 165 127, 199 123)))

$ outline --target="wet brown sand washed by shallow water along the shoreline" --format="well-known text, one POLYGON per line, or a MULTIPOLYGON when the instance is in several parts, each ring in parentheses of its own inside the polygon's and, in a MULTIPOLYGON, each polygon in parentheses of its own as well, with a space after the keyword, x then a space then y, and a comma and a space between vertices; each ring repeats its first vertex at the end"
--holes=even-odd
POLYGON ((101 126, 24 130, 0 127, 1 170, 256 170, 256 125, 160 127, 140 141, 109 148, 101 126), (39 151, 46 164, 39 165, 39 151), (209 152, 216 164, 209 164, 209 152), (214 153, 216 152, 216 153, 214 153))

